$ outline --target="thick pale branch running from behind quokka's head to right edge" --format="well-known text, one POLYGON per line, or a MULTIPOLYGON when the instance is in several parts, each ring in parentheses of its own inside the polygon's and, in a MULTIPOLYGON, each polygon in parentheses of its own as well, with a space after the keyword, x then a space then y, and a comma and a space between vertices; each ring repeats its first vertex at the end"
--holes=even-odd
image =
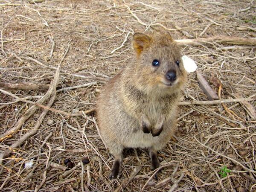
POLYGON ((209 38, 197 38, 197 39, 177 39, 175 40, 181 45, 201 45, 207 43, 222 43, 222 44, 239 44, 239 45, 256 45, 256 39, 239 38, 229 36, 213 36, 209 38))

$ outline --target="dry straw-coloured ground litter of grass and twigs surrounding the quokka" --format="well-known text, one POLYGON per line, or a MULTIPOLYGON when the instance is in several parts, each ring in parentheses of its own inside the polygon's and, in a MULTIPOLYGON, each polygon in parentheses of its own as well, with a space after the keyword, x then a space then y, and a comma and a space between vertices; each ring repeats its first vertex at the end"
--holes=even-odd
MULTIPOLYGON (((47 89, 7 90, 30 103, 0 92, 0 134, 4 136, 0 150, 1 157, 6 156, 0 164, 0 191, 122 191, 118 187, 123 184, 123 191, 167 191, 172 187, 198 192, 256 190, 256 119, 244 102, 226 104, 236 116, 224 111, 221 104, 182 105, 176 141, 159 151, 164 169, 158 181, 152 179, 145 149, 125 151, 122 176, 109 180, 113 157, 97 133, 94 114, 81 113, 94 108, 104 82, 133 57, 134 32, 169 30, 175 39, 216 35, 255 39, 254 1, 29 2, 33 0, 0 1, 0 82, 49 85, 58 75, 57 67, 61 68, 57 91, 53 86, 42 103, 50 108, 48 113, 47 108, 35 107, 21 121, 31 103, 48 93, 47 89), (73 87, 77 85, 82 86, 73 87), (74 89, 58 92, 64 87, 74 89), (46 115, 40 117, 43 110, 46 115), (67 113, 79 114, 64 118, 67 113), (15 133, 6 134, 19 122, 15 133), (17 144, 31 131, 32 137, 17 144), (4 155, 6 151, 8 155, 4 155), (89 157, 90 163, 81 166, 83 157, 89 157), (75 164, 74 169, 65 170, 66 158, 75 164), (29 161, 33 167, 24 169, 29 161), (224 166, 231 172, 221 178, 218 172, 224 166)), ((197 61, 206 79, 214 76, 222 82, 222 99, 239 93, 253 98, 250 104, 255 108, 256 48, 230 46, 213 42, 183 46, 183 52, 197 61)), ((189 75, 183 96, 183 101, 192 100, 207 100, 195 73, 189 75)))

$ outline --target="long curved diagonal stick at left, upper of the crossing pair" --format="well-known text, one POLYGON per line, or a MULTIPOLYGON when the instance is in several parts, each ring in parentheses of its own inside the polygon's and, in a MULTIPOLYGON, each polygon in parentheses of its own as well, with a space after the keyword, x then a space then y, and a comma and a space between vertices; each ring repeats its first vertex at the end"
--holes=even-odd
MULTIPOLYGON (((50 84, 50 87, 49 87, 47 93, 41 99, 38 100, 37 104, 41 104, 41 103, 45 102, 47 99, 49 99, 49 97, 52 95, 52 92, 56 89, 56 85, 58 83, 59 73, 60 73, 60 69, 61 69, 61 63, 64 60, 65 56, 67 55, 67 52, 69 51, 69 49, 70 49, 70 41, 68 42, 67 49, 66 49, 63 57, 61 58, 61 61, 56 69, 55 76, 51 81, 51 84, 50 84)), ((33 105, 32 107, 30 107, 13 128, 9 129, 4 134, 0 135, 0 139, 6 137, 8 135, 15 134, 20 129, 20 127, 23 125, 23 123, 26 122, 26 120, 32 114, 35 113, 35 110, 37 108, 38 108, 37 105, 33 105)))

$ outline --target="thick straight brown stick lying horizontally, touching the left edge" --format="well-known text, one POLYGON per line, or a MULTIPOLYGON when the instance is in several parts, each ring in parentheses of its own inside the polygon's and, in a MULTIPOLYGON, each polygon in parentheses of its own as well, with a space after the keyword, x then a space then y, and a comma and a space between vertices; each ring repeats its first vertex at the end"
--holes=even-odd
POLYGON ((18 90, 44 90, 44 89, 49 89, 49 84, 0 82, 0 88, 1 89, 18 89, 18 90))

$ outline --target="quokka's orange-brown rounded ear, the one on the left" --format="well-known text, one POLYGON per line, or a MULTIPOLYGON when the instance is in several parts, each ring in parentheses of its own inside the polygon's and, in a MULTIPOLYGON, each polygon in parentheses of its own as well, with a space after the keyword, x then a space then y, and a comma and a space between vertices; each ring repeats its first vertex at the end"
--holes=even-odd
POLYGON ((132 44, 137 55, 149 47, 151 38, 143 33, 134 33, 132 38, 132 44))

